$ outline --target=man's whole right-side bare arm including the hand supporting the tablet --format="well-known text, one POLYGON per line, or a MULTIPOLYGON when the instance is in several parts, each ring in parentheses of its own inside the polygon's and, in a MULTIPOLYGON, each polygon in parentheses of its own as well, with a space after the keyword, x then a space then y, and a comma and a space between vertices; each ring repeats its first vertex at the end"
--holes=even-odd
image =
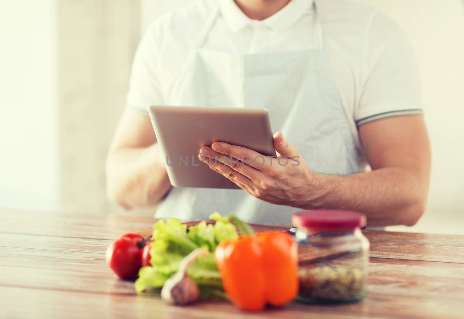
POLYGON ((200 152, 208 155, 200 155, 200 159, 249 194, 270 203, 355 210, 366 213, 369 225, 415 224, 425 210, 430 175, 430 144, 422 115, 372 121, 361 125, 359 131, 371 172, 316 174, 280 132, 274 135, 276 150, 290 159, 299 156, 298 163, 290 160, 288 165, 272 166, 266 157, 257 163, 261 154, 222 142, 202 147, 200 152), (229 160, 230 156, 245 161, 237 163, 229 160))

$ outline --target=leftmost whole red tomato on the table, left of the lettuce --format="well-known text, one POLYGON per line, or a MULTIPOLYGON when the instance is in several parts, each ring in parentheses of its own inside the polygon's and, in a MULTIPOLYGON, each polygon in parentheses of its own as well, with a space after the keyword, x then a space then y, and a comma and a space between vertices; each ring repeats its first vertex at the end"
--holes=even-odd
POLYGON ((122 237, 106 250, 106 263, 121 278, 134 278, 139 272, 141 250, 137 243, 132 238, 122 237))

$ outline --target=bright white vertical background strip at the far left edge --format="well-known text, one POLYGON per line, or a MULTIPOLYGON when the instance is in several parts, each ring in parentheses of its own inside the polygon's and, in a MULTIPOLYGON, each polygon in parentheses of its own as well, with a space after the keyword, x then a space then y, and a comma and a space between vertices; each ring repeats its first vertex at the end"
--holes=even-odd
POLYGON ((56 0, 0 1, 0 205, 59 199, 56 0))

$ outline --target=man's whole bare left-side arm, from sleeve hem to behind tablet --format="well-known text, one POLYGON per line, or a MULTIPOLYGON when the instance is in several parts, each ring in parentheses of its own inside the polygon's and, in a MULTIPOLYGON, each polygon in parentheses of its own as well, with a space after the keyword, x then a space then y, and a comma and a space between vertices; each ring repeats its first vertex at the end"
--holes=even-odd
POLYGON ((130 209, 155 205, 171 187, 148 116, 123 113, 106 161, 108 198, 130 209))

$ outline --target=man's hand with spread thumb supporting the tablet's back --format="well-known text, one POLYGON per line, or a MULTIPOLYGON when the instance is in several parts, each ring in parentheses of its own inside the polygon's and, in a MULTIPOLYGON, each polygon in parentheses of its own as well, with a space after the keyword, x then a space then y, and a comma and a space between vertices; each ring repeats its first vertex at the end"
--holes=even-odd
POLYGON ((295 146, 274 134, 279 154, 268 157, 245 147, 214 142, 200 149, 199 158, 226 176, 248 194, 273 204, 301 207, 317 175, 312 172, 295 146))

